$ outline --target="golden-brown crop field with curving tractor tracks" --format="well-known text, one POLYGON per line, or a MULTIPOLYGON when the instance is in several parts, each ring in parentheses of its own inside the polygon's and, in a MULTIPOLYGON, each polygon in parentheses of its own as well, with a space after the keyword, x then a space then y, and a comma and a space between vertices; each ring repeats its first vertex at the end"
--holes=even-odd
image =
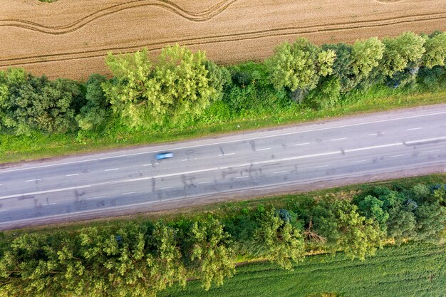
POLYGON ((321 44, 434 30, 446 31, 444 0, 4 0, 0 68, 85 79, 107 73, 109 51, 180 43, 235 63, 298 36, 321 44))

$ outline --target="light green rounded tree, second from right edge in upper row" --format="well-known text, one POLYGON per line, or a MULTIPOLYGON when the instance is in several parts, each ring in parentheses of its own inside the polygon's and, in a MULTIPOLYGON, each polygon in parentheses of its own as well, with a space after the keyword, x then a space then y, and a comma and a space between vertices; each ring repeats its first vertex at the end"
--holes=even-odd
POLYGON ((413 32, 405 32, 395 38, 384 38, 383 43, 385 50, 380 60, 380 70, 390 77, 404 71, 410 62, 419 63, 425 53, 425 38, 413 32))

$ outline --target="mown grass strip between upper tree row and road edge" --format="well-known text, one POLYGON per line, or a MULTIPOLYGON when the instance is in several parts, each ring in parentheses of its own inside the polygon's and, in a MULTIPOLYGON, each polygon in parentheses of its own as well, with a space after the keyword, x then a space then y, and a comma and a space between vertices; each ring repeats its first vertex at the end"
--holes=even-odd
POLYGON ((446 91, 435 93, 400 93, 398 90, 378 88, 365 95, 351 95, 344 104, 335 108, 313 110, 304 105, 292 105, 280 110, 251 110, 231 119, 215 120, 212 124, 199 123, 182 130, 161 132, 120 131, 95 133, 79 137, 76 133, 16 137, 0 135, 0 162, 19 162, 60 157, 76 153, 132 147, 161 142, 187 140, 194 137, 221 135, 228 132, 274 127, 311 120, 337 118, 346 115, 372 113, 395 108, 410 108, 446 102, 446 91), (360 97, 361 98, 358 98, 360 97))

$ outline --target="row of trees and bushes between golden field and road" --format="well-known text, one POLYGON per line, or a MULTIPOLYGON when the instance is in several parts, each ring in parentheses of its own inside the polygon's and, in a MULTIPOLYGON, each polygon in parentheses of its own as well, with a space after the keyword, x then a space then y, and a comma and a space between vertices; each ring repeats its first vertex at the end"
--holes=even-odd
POLYGON ((110 56, 114 77, 92 75, 83 84, 11 69, 0 75, 0 132, 31 136, 73 130, 76 135, 82 130, 79 143, 105 136, 128 142, 122 135, 184 131, 231 120, 280 123, 282 114, 304 117, 339 105, 348 109, 370 93, 382 98, 443 90, 445 41, 441 32, 321 47, 299 38, 279 46, 264 63, 227 68, 208 61, 204 53, 173 46, 153 61, 146 51, 110 56))

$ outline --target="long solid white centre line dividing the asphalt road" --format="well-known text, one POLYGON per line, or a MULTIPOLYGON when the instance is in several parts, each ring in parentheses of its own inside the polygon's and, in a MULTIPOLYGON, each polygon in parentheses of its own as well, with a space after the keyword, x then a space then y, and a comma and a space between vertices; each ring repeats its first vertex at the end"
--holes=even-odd
MULTIPOLYGON (((437 138, 427 138, 424 140, 413 140, 411 143, 430 142, 430 141, 434 141, 434 140, 446 140, 446 136, 445 137, 437 137, 437 138)), ((397 145, 405 145, 408 143, 409 142, 405 142, 405 143, 396 142, 396 143, 390 143, 388 145, 375 145, 372 147, 359 147, 356 149, 344 150, 343 152, 346 153, 346 152, 358 152, 358 151, 362 151, 362 150, 373 150, 376 148, 393 147, 393 146, 397 146, 397 145)), ((241 163, 241 164, 237 164, 237 165, 212 167, 212 168, 207 168, 207 169, 202 169, 202 170, 191 170, 191 171, 187 171, 187 172, 176 172, 176 173, 169 173, 169 174, 153 175, 151 177, 138 177, 138 178, 134 178, 134 179, 116 180, 116 181, 112 181, 112 182, 100 182, 100 183, 96 183, 96 184, 85 184, 85 185, 76 186, 76 187, 66 187, 66 188, 61 188, 61 189, 48 189, 46 191, 28 192, 28 193, 23 193, 23 194, 11 194, 8 196, 2 196, 2 197, 0 197, 0 199, 23 197, 23 196, 27 196, 27 195, 36 195, 36 194, 46 194, 46 193, 53 193, 53 192, 63 192, 63 191, 71 190, 71 189, 85 189, 88 187, 104 186, 104 185, 108 185, 108 184, 123 184, 126 182, 139 182, 142 180, 147 180, 147 179, 152 179, 152 178, 173 177, 173 176, 182 175, 182 174, 195 174, 195 173, 199 173, 199 172, 228 170, 229 168, 249 167, 251 165, 269 164, 269 163, 275 163, 275 162, 300 160, 300 159, 306 159, 306 158, 310 158, 310 157, 321 157, 321 156, 338 155, 338 154, 341 155, 342 151, 336 150, 336 151, 332 151, 332 152, 321 152, 321 153, 312 154, 312 155, 302 155, 302 156, 296 156, 296 157, 286 157, 286 158, 281 158, 281 159, 264 160, 264 161, 250 162, 250 163, 241 163)))

